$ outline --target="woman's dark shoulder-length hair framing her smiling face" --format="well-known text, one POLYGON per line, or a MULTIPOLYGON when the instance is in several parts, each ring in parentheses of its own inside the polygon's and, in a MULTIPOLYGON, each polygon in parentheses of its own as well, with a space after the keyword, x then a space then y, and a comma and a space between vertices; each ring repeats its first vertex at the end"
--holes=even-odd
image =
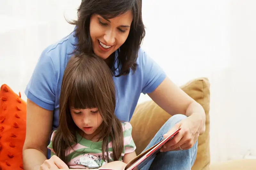
MULTIPOLYGON (((82 0, 77 12, 78 19, 74 22, 69 22, 76 25, 76 37, 78 38, 76 51, 87 54, 93 52, 90 36, 90 18, 92 14, 111 19, 127 11, 132 11, 133 20, 129 35, 120 47, 120 51, 116 51, 118 54, 117 68, 119 69, 119 74, 115 76, 127 75, 130 69, 135 71, 139 48, 145 36, 141 6, 142 0, 82 0)), ((114 63, 111 64, 109 67, 116 70, 114 63)))

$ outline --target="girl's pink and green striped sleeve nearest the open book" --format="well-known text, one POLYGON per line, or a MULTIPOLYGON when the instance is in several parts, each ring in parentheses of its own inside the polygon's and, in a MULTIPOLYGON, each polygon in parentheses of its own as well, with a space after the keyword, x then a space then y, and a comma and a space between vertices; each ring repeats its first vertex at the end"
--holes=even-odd
POLYGON ((136 146, 132 139, 132 125, 129 122, 124 122, 123 124, 124 131, 124 150, 123 155, 127 153, 132 153, 135 151, 136 146))

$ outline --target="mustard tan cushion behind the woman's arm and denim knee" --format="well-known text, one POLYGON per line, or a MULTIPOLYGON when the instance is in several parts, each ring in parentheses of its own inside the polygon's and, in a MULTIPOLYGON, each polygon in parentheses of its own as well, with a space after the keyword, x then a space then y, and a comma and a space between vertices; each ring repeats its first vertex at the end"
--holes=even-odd
MULTIPOLYGON (((208 78, 197 78, 180 87, 190 97, 202 105, 206 114, 205 133, 198 138, 198 150, 192 170, 208 170, 210 164, 210 83, 208 78)), ((136 153, 140 154, 148 145, 156 132, 171 117, 154 101, 138 104, 131 119, 132 137, 136 144, 136 153)))

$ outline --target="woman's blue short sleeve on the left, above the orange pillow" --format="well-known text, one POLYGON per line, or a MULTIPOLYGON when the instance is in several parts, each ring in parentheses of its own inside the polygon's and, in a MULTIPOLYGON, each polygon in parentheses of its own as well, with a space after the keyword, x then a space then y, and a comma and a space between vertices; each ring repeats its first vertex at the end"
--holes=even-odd
POLYGON ((57 75, 51 57, 43 51, 25 90, 27 98, 47 110, 54 110, 57 75))

